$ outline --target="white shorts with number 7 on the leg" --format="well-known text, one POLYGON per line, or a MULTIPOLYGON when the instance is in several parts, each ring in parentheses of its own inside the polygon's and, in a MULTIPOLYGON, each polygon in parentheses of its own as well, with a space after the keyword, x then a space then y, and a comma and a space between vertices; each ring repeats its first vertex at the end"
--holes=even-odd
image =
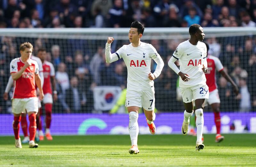
POLYGON ((147 111, 155 110, 155 90, 127 90, 125 107, 143 107, 147 111))

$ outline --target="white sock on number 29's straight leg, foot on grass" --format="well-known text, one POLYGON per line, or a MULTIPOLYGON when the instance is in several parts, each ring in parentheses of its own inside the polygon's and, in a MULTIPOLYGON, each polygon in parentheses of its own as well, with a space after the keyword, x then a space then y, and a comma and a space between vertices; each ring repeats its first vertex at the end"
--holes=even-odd
POLYGON ((196 143, 202 142, 203 128, 204 128, 204 114, 203 109, 199 108, 195 111, 196 114, 196 143))

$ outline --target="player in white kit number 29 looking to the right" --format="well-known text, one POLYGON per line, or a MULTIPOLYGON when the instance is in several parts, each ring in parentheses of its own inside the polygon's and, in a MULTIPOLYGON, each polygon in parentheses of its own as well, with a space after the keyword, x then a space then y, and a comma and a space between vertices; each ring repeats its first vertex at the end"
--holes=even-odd
POLYGON ((204 40, 204 30, 198 24, 189 27, 190 39, 180 43, 174 51, 168 65, 180 76, 180 91, 185 106, 184 120, 181 131, 188 132, 189 117, 193 114, 193 100, 195 100, 195 115, 197 140, 196 150, 204 149, 202 134, 204 127, 204 99, 209 98, 208 86, 204 73, 207 72, 207 50, 204 40), (180 69, 174 64, 179 60, 180 69))

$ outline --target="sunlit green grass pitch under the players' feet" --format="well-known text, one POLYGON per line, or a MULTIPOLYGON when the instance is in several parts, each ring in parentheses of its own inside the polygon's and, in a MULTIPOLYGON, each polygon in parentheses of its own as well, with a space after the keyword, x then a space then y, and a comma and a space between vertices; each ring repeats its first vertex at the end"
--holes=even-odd
MULTIPOLYGON (((204 135, 204 150, 195 150, 196 137, 139 135, 140 153, 130 155, 130 136, 53 136, 38 148, 14 146, 14 137, 0 137, 0 166, 256 166, 256 134, 204 135)), ((21 137, 23 139, 23 137, 21 137)))

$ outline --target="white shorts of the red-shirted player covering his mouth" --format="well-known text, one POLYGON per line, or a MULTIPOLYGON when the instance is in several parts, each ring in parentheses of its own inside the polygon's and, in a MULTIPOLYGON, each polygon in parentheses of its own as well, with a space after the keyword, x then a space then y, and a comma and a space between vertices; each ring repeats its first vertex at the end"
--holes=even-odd
POLYGON ((12 113, 38 112, 38 98, 12 99, 12 113))

